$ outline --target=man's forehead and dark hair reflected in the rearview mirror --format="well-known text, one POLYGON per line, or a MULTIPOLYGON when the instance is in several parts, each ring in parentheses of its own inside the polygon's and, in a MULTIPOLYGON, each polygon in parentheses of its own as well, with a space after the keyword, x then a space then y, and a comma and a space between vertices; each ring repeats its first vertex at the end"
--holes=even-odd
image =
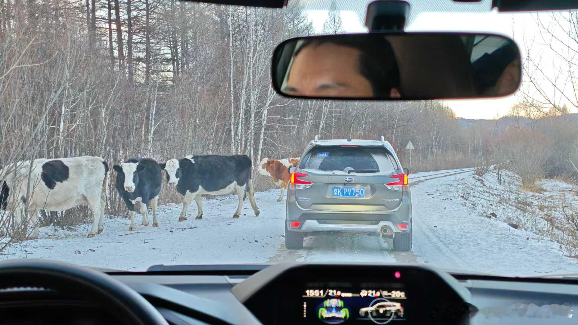
POLYGON ((400 98, 399 69, 387 40, 305 41, 283 92, 314 97, 400 98))

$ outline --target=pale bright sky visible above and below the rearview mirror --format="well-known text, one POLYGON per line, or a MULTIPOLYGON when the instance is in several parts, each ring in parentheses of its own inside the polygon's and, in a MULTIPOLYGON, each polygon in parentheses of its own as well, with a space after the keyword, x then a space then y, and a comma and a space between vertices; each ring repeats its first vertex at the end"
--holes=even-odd
MULTIPOLYGON (((341 10, 341 20, 346 32, 366 32, 365 8, 367 0, 338 1, 337 6, 341 10), (347 9, 347 10, 343 10, 347 9), (357 8, 362 8, 359 10, 357 8)), ((468 32, 492 32, 506 35, 516 41, 524 60, 525 49, 532 44, 532 50, 543 53, 544 62, 553 61, 553 57, 547 57, 544 51, 542 37, 536 24, 537 14, 531 13, 498 13, 496 9, 490 9, 491 1, 483 0, 475 5, 455 4, 449 0, 410 0, 410 18, 406 25, 406 31, 468 31, 468 32)), ((321 31, 323 23, 327 19, 328 1, 309 0, 305 1, 307 15, 317 31, 321 31)), ((540 19, 550 21, 550 13, 540 13, 540 19)), ((546 67, 547 68, 547 67, 546 67)), ((566 90, 565 92, 570 91, 566 90)), ((495 99, 468 99, 444 101, 450 106, 458 117, 466 119, 495 119, 508 113, 512 105, 518 99, 516 94, 509 97, 495 99)), ((576 112, 576 110, 573 110, 576 112)))

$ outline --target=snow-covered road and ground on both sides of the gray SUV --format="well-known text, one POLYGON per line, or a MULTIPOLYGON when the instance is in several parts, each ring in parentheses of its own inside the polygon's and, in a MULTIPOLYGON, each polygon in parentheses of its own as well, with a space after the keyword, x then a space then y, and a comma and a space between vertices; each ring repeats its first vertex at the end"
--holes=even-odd
MULTIPOLYGON (((513 175, 505 179, 513 193, 520 191, 513 175)), ((39 239, 17 243, 0 258, 53 258, 131 271, 154 264, 401 261, 501 275, 578 272, 577 260, 565 257, 560 244, 522 229, 529 229, 529 223, 518 221, 520 229, 516 230, 503 222, 511 223, 506 217, 517 211, 507 202, 503 202, 505 209, 496 209, 497 217, 491 218, 468 206, 468 202, 476 201, 477 206, 493 207, 492 198, 504 196, 507 190, 497 184, 494 173, 484 175, 483 184, 469 168, 415 173, 410 175, 412 181, 412 253, 392 252, 390 239, 363 235, 309 237, 305 248, 287 250, 283 245, 285 202, 276 201, 279 190, 270 190, 256 193, 259 217, 246 202, 244 215, 232 219, 236 195, 203 199, 202 220, 194 220, 195 204, 188 208, 188 220, 181 222, 177 221, 181 206, 166 204, 158 210, 158 228, 140 226, 140 215, 135 216, 136 231, 128 231, 128 219, 112 217, 106 219, 102 234, 94 238, 86 238, 88 225, 75 230, 45 227, 39 239), (469 200, 462 198, 465 193, 469 200)), ((554 182, 544 183, 544 189, 555 192, 568 187, 554 182)), ((491 212, 494 210, 487 213, 491 212)))

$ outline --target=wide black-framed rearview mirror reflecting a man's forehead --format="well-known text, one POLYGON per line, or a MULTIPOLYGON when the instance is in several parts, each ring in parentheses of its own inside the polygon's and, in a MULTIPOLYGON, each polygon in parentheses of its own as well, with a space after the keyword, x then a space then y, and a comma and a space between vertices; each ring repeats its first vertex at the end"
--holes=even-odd
POLYGON ((297 98, 492 98, 520 86, 520 51, 488 34, 309 36, 276 47, 272 77, 277 93, 297 98))

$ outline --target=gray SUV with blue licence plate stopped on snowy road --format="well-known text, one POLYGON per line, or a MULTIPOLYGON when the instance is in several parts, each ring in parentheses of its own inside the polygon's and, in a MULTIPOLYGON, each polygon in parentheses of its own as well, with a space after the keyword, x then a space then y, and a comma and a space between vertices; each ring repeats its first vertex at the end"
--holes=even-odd
POLYGON ((407 168, 390 143, 317 140, 289 168, 285 246, 303 248, 306 236, 355 233, 393 238, 412 249, 412 196, 407 168))

